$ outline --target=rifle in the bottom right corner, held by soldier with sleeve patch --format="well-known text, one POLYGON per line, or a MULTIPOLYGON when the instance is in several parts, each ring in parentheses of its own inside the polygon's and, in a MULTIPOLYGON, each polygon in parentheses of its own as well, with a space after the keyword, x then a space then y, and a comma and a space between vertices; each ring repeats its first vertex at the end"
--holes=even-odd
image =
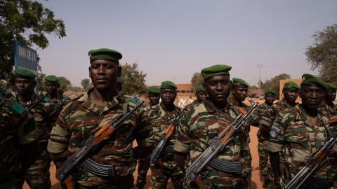
MULTIPOLYGON (((309 185, 310 183, 314 185, 316 183, 317 185, 316 181, 317 179, 312 177, 312 174, 317 172, 319 167, 321 167, 324 164, 331 148, 336 143, 336 141, 337 141, 336 136, 331 137, 331 139, 324 146, 322 146, 321 148, 318 149, 318 151, 312 154, 311 157, 308 159, 308 161, 305 162, 305 166, 302 169, 300 169, 300 172, 298 172, 298 174, 296 174, 293 177, 293 179, 291 179, 289 183, 286 184, 286 189, 300 188, 301 186, 303 186, 304 183, 307 183, 309 185)), ((320 181, 319 186, 322 188, 330 188, 331 184, 333 186, 333 181, 331 180, 331 182, 320 181)))

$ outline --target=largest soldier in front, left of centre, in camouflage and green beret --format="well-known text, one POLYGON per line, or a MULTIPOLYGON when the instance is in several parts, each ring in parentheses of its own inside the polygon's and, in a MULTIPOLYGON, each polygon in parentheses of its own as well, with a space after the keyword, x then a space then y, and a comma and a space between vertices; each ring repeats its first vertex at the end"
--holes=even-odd
MULTIPOLYGON (((117 91, 121 76, 121 53, 110 49, 91 50, 89 76, 93 88, 65 105, 51 132, 48 151, 52 160, 64 162, 84 145, 88 137, 116 116, 136 106, 133 98, 117 91)), ((147 112, 140 108, 126 120, 89 158, 102 165, 114 166, 114 177, 102 177, 83 169, 74 177, 77 188, 134 188, 136 159, 152 152, 152 127, 147 112), (138 146, 133 148, 136 139, 138 146)))

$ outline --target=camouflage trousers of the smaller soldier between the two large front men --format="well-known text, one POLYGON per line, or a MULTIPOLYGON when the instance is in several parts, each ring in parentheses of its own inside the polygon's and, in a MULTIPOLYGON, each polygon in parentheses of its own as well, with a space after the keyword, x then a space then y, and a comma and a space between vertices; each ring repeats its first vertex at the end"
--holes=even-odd
POLYGON ((176 161, 164 161, 165 169, 151 163, 151 183, 152 189, 166 188, 167 182, 171 179, 174 188, 183 188, 185 174, 180 170, 176 161))

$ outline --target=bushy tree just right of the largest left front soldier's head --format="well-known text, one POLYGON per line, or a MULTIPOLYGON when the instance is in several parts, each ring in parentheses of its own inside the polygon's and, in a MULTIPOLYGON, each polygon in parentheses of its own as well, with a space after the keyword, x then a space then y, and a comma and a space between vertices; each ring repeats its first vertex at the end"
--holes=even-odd
POLYGON ((147 87, 145 85, 145 77, 147 73, 143 73, 143 71, 138 70, 138 61, 133 64, 125 64, 121 65, 121 78, 124 79, 123 89, 121 93, 131 95, 134 94, 146 94, 147 87))

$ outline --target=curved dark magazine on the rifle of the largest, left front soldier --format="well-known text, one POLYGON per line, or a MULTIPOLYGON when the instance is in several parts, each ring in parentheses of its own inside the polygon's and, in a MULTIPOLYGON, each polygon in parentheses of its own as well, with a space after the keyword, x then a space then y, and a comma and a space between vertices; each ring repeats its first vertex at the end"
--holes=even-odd
POLYGON ((104 177, 114 176, 114 165, 102 165, 98 162, 94 162, 90 158, 86 158, 84 162, 81 163, 81 167, 86 169, 91 174, 104 177))

